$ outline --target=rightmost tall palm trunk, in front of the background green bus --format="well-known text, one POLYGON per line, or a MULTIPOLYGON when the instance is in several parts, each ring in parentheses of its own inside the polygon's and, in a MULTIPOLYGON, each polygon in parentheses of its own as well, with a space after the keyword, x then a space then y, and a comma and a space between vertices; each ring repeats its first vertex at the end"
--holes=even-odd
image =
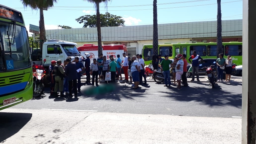
POLYGON ((219 58, 219 54, 223 53, 222 49, 222 26, 221 26, 221 7, 220 0, 217 0, 218 11, 217 11, 217 58, 219 58))

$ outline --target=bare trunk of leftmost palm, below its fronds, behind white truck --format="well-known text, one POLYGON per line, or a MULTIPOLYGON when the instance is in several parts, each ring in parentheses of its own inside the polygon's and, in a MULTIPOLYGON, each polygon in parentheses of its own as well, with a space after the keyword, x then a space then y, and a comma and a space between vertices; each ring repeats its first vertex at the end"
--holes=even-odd
POLYGON ((45 20, 44 20, 44 12, 43 12, 42 8, 40 8, 39 38, 40 38, 40 48, 42 50, 42 44, 46 41, 46 36, 45 36, 45 20))

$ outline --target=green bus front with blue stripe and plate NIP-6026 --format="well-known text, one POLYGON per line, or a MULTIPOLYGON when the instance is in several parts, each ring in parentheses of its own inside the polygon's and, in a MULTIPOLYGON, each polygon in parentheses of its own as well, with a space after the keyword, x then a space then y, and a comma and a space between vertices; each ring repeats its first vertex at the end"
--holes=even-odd
POLYGON ((33 97, 28 33, 22 14, 0 5, 0 110, 33 97))

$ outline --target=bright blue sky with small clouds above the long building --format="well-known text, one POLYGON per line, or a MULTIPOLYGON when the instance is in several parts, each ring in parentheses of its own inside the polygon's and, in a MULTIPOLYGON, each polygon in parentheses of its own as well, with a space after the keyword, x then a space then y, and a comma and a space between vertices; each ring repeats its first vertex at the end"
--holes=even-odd
MULTIPOLYGON (((1 1, 2 5, 22 12, 27 29, 29 24, 39 26, 39 10, 31 10, 20 0, 1 1)), ((100 5, 100 13, 122 16, 126 26, 153 24, 153 0, 112 0, 106 9, 100 5)), ((242 0, 221 1, 222 20, 242 19, 242 0)), ((94 4, 83 0, 59 0, 52 9, 44 11, 45 28, 58 29, 58 25, 82 28, 75 19, 93 15, 94 4)), ((217 0, 158 0, 158 24, 217 20, 217 0)), ((29 33, 30 34, 30 33, 29 33)))

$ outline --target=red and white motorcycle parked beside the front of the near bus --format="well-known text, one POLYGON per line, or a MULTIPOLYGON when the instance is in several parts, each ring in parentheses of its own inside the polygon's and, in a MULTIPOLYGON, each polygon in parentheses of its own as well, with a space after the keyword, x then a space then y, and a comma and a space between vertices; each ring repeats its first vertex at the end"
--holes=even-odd
MULTIPOLYGON (((46 59, 44 59, 44 64, 46 59)), ((36 64, 33 62, 32 70, 33 70, 33 97, 39 97, 44 92, 44 84, 42 83, 44 76, 46 74, 46 70, 43 65, 36 64)))

